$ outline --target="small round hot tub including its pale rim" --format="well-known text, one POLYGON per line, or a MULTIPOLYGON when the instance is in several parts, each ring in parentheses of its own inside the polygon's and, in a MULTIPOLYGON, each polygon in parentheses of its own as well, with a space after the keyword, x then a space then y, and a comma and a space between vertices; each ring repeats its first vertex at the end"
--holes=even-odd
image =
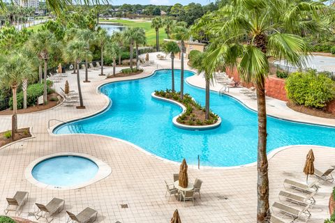
POLYGON ((26 170, 26 177, 48 189, 75 189, 107 177, 110 167, 90 155, 79 153, 54 154, 35 160, 26 170))

